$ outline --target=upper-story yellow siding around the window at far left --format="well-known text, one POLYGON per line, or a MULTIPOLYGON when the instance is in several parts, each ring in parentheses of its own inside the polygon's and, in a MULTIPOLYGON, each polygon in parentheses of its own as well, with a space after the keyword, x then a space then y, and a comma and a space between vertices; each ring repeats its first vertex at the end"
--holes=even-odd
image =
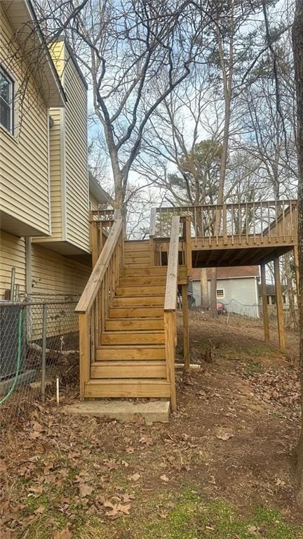
POLYGON ((0 63, 15 79, 14 136, 0 126, 0 209, 48 235, 48 110, 12 43, 13 30, 0 3, 0 63))

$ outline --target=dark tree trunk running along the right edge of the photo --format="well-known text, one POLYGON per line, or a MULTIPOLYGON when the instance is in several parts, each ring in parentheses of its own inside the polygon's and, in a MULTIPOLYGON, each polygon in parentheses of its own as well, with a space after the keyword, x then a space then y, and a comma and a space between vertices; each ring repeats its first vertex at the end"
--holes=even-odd
POLYGON ((299 368, 301 380, 301 435, 297 448, 297 501, 303 507, 303 2, 296 1, 292 25, 292 47, 295 60, 295 87, 297 93, 297 157, 298 157, 298 259, 299 259, 299 368))

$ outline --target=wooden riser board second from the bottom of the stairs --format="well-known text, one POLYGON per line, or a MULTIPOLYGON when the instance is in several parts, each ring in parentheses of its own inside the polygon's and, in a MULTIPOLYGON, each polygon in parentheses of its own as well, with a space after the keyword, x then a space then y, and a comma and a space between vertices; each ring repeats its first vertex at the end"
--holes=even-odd
POLYGON ((102 361, 93 363, 91 378, 166 378, 165 361, 102 361))

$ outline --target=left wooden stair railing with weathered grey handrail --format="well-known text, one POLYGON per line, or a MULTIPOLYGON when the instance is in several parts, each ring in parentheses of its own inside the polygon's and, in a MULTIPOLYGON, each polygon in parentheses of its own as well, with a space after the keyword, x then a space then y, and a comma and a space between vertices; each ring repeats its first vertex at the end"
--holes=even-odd
POLYGON ((95 349, 100 344, 100 335, 105 328, 105 318, 119 284, 122 268, 123 220, 121 214, 118 214, 75 309, 79 313, 81 401, 84 399, 85 384, 90 379, 90 364, 95 361, 95 349))

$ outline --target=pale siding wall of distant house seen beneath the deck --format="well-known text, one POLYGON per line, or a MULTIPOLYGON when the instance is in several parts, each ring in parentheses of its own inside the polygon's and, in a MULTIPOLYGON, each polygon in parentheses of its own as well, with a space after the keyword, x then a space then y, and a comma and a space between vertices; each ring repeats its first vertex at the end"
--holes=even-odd
MULTIPOLYGON (((238 313, 245 316, 259 318, 259 297, 256 289, 255 277, 218 279, 217 289, 224 289, 224 298, 221 301, 231 313, 238 313)), ((193 293, 196 306, 201 305, 201 285, 200 281, 194 280, 193 293)), ((210 295, 210 280, 208 281, 208 294, 210 295)))

